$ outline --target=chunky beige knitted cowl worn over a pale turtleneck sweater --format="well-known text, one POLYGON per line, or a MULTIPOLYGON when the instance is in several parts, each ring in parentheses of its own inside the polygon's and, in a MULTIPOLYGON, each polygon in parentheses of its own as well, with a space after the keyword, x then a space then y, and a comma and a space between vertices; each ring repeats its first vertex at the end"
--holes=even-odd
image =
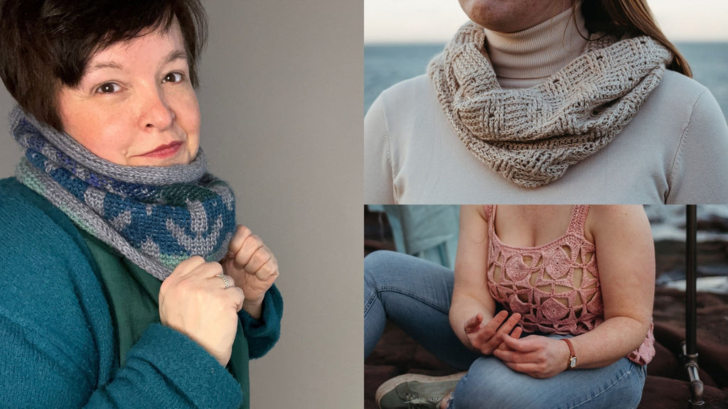
POLYGON ((604 148, 657 87, 672 56, 649 36, 590 36, 545 82, 503 90, 483 28, 463 25, 427 68, 460 140, 504 178, 537 187, 604 148))

